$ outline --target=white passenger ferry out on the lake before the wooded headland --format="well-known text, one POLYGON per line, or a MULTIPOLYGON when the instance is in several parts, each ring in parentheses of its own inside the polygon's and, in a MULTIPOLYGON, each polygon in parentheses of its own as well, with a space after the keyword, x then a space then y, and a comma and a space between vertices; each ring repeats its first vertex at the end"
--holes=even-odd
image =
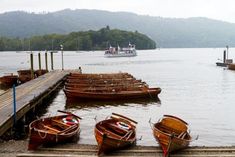
POLYGON ((110 46, 108 50, 105 51, 105 57, 134 57, 137 56, 135 45, 130 44, 128 47, 120 48, 119 46, 112 47, 110 46))

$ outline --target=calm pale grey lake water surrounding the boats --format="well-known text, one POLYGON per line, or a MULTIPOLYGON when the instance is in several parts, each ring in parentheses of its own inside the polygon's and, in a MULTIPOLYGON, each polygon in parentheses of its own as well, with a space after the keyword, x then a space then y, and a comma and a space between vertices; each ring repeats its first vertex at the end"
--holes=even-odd
MULTIPOLYGON (((53 116, 58 114, 57 109, 66 109, 83 117, 78 144, 96 144, 94 118, 103 120, 116 112, 138 121, 137 136, 142 136, 138 145, 157 145, 148 121, 151 118, 152 122, 156 122, 164 114, 178 116, 190 124, 192 135, 199 135, 199 140, 191 145, 235 145, 235 71, 215 65, 218 58, 222 58, 223 50, 143 50, 132 58, 104 58, 102 51, 64 52, 65 69, 78 69, 81 66, 83 73, 129 72, 150 87, 161 87, 161 103, 66 104, 66 97, 61 90, 43 116, 53 116)), ((37 53, 34 54, 35 68, 38 68, 37 53)), ((44 52, 42 54, 44 61, 44 52)), ((229 49, 229 58, 235 59, 235 49, 229 49)), ((54 55, 54 62, 55 69, 61 69, 60 52, 54 55)), ((45 67, 44 62, 42 66, 45 67)), ((29 67, 29 54, 0 52, 0 75, 29 67)))

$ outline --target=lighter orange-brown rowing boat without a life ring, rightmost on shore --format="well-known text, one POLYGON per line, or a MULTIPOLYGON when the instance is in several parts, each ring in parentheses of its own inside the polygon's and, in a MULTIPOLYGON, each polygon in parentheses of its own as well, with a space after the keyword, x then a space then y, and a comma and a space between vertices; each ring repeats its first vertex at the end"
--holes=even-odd
POLYGON ((164 157, 168 157, 170 152, 188 147, 192 141, 188 123, 175 116, 164 115, 159 122, 153 124, 152 130, 164 157))

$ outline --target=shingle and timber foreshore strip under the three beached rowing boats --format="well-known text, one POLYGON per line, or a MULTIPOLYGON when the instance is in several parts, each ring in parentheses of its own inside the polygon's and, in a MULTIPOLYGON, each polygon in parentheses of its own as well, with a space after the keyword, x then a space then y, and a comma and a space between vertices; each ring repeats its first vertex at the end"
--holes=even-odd
MULTIPOLYGON (((10 140, 0 142, 0 156, 97 156, 97 145, 64 143, 55 146, 43 146, 35 151, 28 151, 28 140, 10 140)), ((161 156, 158 146, 133 146, 115 151, 105 156, 161 156)), ((190 146, 187 149, 173 153, 172 156, 235 156, 235 146, 190 146)))

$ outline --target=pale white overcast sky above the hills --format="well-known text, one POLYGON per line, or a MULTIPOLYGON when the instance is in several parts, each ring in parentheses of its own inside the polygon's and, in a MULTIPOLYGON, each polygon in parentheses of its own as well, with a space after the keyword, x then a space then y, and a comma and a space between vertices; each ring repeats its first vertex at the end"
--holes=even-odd
POLYGON ((208 17, 235 23, 235 0, 0 0, 0 13, 62 9, 128 11, 161 17, 208 17))

